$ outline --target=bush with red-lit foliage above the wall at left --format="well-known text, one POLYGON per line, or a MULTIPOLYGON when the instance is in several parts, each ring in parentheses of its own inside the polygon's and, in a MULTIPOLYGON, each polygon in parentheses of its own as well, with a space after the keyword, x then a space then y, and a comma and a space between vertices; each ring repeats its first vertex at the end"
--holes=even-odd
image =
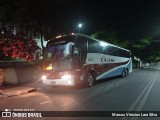
POLYGON ((0 50, 3 54, 7 57, 33 60, 34 53, 39 49, 35 40, 24 33, 14 35, 11 31, 9 29, 0 34, 0 50))

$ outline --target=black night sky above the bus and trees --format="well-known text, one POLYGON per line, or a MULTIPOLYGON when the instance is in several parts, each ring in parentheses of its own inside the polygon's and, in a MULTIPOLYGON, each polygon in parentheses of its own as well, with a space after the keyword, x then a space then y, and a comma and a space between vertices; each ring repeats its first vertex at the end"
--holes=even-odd
POLYGON ((83 24, 81 32, 92 34, 98 30, 113 30, 122 36, 137 39, 153 36, 160 39, 160 1, 122 0, 79 0, 51 8, 50 20, 57 31, 77 32, 78 23, 83 24))

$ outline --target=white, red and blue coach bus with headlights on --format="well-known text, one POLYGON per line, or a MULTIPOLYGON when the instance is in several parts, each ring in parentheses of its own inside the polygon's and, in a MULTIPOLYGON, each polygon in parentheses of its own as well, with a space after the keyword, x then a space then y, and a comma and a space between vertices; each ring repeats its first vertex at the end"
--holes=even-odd
POLYGON ((46 85, 91 87, 97 80, 132 72, 129 50, 78 33, 50 40, 45 56, 48 72, 42 81, 46 85))

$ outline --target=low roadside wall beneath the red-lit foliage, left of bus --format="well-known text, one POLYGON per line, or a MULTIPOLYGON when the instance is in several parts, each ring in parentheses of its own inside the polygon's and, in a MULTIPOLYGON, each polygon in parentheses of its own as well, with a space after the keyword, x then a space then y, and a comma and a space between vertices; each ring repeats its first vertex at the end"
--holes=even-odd
POLYGON ((0 86, 4 84, 23 84, 39 80, 41 70, 39 67, 0 68, 0 86))

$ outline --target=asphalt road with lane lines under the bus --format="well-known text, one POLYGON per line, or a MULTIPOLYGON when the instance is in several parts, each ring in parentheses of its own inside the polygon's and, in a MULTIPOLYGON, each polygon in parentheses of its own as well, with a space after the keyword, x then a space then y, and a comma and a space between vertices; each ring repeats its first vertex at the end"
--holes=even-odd
MULTIPOLYGON (((35 111, 160 111, 160 65, 106 79, 92 88, 43 86, 38 91, 0 100, 5 109, 35 111)), ((74 114, 74 113, 73 113, 74 114)), ((87 114, 87 113, 86 113, 87 114)), ((98 113, 97 113, 98 114, 98 113)), ((16 118, 14 118, 16 119, 16 118)), ((25 118, 27 119, 27 118, 25 118)), ((46 118, 38 118, 45 120, 46 118)), ((53 117, 59 120, 159 120, 160 117, 53 117)))

